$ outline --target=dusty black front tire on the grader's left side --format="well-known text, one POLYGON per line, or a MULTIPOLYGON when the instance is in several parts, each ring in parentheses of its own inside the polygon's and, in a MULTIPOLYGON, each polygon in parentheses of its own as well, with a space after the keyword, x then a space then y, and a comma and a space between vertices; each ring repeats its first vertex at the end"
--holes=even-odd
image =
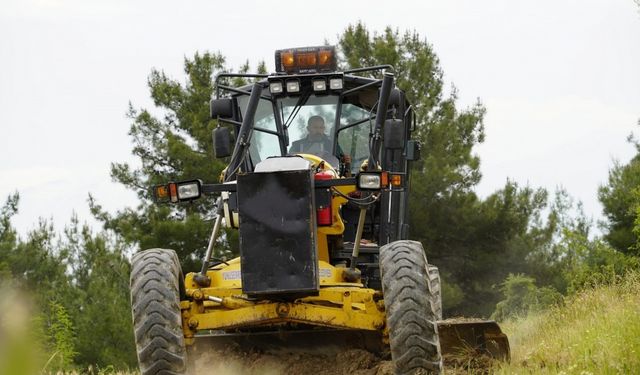
POLYGON ((173 250, 145 250, 131 260, 131 311, 141 375, 187 371, 180 315, 181 275, 173 250))

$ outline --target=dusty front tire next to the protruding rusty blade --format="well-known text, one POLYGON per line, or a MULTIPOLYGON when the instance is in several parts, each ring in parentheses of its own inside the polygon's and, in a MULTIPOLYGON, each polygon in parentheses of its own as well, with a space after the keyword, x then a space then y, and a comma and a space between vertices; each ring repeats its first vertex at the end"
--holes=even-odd
POLYGON ((380 272, 395 373, 441 374, 435 301, 422 244, 396 241, 382 246, 380 272))

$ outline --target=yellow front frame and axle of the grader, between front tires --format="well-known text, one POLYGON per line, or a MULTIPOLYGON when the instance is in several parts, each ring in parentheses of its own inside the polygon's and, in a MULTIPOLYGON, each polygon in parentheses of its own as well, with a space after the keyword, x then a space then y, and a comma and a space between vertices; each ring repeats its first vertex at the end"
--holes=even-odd
MULTIPOLYGON (((325 172, 337 172, 315 155, 301 154, 325 172)), ((356 190, 354 185, 337 186, 343 195, 356 190)), ((364 288, 361 283, 346 282, 345 268, 329 264, 327 236, 344 232, 340 206, 347 200, 338 194, 331 199, 331 226, 318 227, 316 247, 320 290, 318 295, 294 301, 254 300, 242 292, 240 258, 219 264, 207 271, 211 280, 203 288, 194 280, 194 273, 186 275, 185 289, 190 300, 181 302, 183 330, 187 344, 204 330, 233 330, 280 324, 311 325, 337 329, 382 331, 385 325, 384 303, 380 291, 364 288)), ((227 212, 225 212, 227 214, 227 212)), ((233 213, 229 212, 229 215, 233 213)))

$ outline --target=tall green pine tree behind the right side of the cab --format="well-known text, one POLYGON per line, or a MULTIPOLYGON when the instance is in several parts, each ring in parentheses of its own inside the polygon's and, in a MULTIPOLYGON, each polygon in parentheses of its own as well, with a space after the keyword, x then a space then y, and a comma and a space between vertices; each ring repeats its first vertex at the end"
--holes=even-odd
POLYGON ((439 59, 424 37, 391 28, 372 34, 357 23, 339 46, 343 68, 394 66, 422 143, 422 160, 412 170, 410 237, 440 267, 446 312, 490 315, 500 299, 494 285, 509 272, 529 271, 525 259, 536 251, 529 230, 546 192, 507 182, 484 201, 476 196, 481 173, 474 148, 484 141, 486 110, 480 101, 460 109, 455 88, 445 95, 439 59))

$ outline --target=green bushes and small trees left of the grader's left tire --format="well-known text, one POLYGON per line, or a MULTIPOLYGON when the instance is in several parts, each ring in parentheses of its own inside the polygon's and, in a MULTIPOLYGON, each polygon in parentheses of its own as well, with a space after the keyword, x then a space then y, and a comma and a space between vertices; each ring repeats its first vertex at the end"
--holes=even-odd
POLYGON ((135 366, 124 248, 75 219, 61 235, 42 221, 20 238, 10 225, 17 206, 15 194, 0 209, 0 303, 11 305, 1 311, 0 331, 30 332, 15 336, 30 347, 30 360, 17 361, 0 343, 0 363, 49 371, 135 366))

